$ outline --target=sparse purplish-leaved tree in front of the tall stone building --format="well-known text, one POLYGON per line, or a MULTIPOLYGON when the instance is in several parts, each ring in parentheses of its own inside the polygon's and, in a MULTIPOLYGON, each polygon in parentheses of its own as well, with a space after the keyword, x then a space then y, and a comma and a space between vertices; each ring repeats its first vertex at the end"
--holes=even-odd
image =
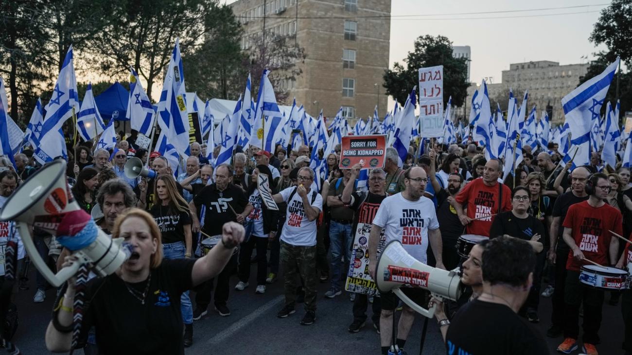
POLYGON ((296 63, 305 63, 305 49, 288 42, 295 35, 275 35, 268 33, 265 40, 262 36, 253 38, 250 54, 243 65, 252 74, 252 96, 257 98, 259 81, 264 69, 270 70, 270 83, 274 88, 279 104, 289 104, 289 91, 286 83, 295 81, 303 70, 296 63))

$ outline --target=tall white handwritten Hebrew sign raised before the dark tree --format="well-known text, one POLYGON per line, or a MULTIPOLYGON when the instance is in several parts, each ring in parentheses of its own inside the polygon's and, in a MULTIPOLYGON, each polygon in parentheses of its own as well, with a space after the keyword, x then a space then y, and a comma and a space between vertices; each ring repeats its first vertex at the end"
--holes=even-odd
POLYGON ((443 135, 443 66, 419 69, 420 134, 423 138, 443 135))

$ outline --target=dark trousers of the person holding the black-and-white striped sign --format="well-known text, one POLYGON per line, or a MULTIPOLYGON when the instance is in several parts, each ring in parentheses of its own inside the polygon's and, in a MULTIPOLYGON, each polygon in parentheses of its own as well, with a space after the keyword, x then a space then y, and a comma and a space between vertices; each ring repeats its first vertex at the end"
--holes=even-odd
POLYGON ((246 224, 246 239, 241 243, 239 251, 239 280, 241 282, 248 282, 250 279, 250 255, 252 255, 253 248, 257 249, 257 285, 265 285, 265 274, 267 268, 267 250, 268 250, 268 238, 267 236, 255 236, 252 234, 252 222, 246 224))

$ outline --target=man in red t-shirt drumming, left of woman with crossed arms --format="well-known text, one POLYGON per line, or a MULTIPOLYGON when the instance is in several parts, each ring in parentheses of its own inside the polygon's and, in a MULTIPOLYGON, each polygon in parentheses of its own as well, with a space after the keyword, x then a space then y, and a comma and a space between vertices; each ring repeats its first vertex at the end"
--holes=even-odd
POLYGON ((456 195, 452 205, 466 226, 467 234, 489 237, 489 229, 494 216, 511 210, 511 190, 498 182, 502 165, 498 159, 490 159, 485 163, 482 179, 473 179, 456 195), (464 212, 463 205, 467 211, 464 212))

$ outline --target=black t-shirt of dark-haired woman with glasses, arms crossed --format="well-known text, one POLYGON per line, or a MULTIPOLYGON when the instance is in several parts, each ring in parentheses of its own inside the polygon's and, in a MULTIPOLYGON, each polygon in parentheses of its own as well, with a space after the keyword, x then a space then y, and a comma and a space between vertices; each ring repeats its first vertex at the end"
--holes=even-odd
MULTIPOLYGON (((544 226, 539 219, 530 215, 518 218, 511 211, 501 212, 492 222, 489 238, 494 239, 503 234, 525 241, 530 240, 534 234, 540 234, 540 238, 544 238, 544 226)), ((544 240, 540 239, 540 242, 544 243, 544 240)))

